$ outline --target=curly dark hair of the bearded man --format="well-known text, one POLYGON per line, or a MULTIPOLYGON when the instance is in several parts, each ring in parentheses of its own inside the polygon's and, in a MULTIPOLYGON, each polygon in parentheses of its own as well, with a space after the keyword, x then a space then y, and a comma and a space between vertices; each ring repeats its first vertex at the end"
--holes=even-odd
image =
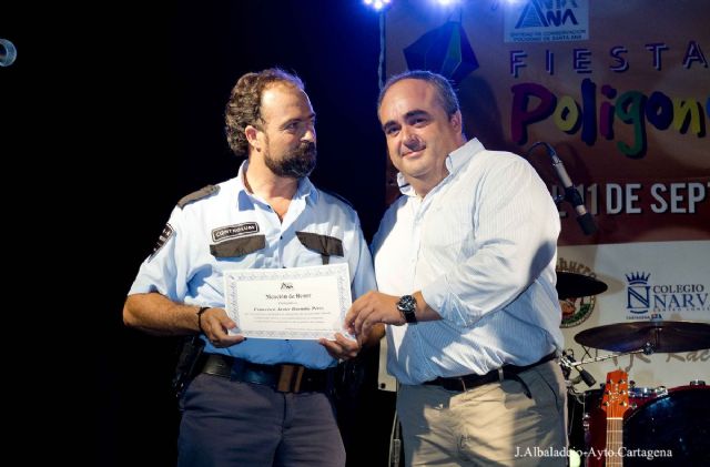
POLYGON ((274 83, 283 83, 304 91, 303 81, 280 68, 270 68, 257 73, 246 73, 239 79, 224 110, 226 141, 232 152, 240 156, 248 154, 248 141, 244 131, 252 125, 262 129, 262 93, 274 83))

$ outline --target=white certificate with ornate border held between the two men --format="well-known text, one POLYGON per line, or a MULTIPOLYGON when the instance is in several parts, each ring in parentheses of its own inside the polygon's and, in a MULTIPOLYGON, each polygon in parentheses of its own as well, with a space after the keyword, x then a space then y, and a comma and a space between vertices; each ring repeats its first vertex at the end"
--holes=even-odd
MULTIPOLYGON (((276 339, 335 338, 351 306, 347 263, 224 273, 230 334, 276 339)), ((352 336, 348 336, 352 337, 352 336)))

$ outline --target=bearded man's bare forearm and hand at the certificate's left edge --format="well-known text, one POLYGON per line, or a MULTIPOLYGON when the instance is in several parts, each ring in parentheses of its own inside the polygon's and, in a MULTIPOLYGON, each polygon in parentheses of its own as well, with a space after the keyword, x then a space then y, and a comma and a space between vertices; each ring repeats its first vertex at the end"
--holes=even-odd
POLYGON ((175 303, 159 293, 129 295, 123 305, 123 322, 158 336, 180 336, 204 332, 213 345, 229 347, 244 341, 230 336, 236 326, 222 308, 209 308, 197 316, 200 306, 175 303), (200 329, 202 325, 202 329, 200 329))

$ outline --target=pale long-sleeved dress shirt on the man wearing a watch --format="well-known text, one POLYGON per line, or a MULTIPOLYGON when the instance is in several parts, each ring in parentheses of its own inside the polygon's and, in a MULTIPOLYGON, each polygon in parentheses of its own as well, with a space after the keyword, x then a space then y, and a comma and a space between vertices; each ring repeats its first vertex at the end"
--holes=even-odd
POLYGON ((422 291, 442 321, 387 326, 387 369, 403 384, 528 365, 561 349, 555 203, 532 166, 478 140, 446 160, 424 199, 385 213, 372 250, 379 291, 422 291))

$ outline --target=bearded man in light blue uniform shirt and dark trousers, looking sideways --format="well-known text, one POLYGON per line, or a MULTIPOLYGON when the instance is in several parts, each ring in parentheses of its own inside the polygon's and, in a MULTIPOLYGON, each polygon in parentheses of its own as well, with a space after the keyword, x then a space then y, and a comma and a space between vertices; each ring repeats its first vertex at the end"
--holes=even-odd
POLYGON ((179 465, 343 466, 329 388, 359 344, 245 339, 224 311, 223 272, 347 263, 353 297, 375 287, 355 211, 307 179, 315 113, 303 82, 280 69, 247 73, 225 110, 237 176, 182 199, 123 308, 155 335, 201 333, 200 374, 182 396, 179 465), (291 377, 296 375, 296 377, 291 377))

